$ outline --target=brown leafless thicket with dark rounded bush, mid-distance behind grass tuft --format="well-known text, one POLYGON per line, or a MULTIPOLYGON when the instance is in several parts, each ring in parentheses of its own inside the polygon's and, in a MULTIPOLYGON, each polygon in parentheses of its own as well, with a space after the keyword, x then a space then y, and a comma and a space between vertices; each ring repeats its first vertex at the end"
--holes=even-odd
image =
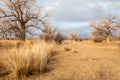
POLYGON ((55 25, 48 25, 44 29, 44 33, 40 35, 41 39, 44 39, 47 42, 54 41, 56 43, 61 44, 62 41, 65 39, 63 31, 58 29, 55 25))

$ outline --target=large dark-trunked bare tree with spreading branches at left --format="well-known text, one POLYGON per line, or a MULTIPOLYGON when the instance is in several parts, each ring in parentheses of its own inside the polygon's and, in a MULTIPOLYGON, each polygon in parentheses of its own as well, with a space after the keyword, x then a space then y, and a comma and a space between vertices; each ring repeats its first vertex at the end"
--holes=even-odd
MULTIPOLYGON (((42 7, 36 6, 36 0, 3 0, 0 8, 0 19, 9 21, 10 29, 25 41, 26 33, 32 34, 29 28, 37 28, 44 32, 47 15, 42 7)), ((7 23, 6 23, 7 24, 7 23)))

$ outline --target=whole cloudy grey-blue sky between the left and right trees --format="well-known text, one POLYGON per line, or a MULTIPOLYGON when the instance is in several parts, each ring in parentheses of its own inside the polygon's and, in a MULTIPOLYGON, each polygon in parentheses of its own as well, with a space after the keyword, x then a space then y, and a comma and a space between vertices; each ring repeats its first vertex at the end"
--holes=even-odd
POLYGON ((89 36, 89 21, 106 14, 120 14, 120 0, 38 0, 52 14, 51 23, 66 32, 89 36))

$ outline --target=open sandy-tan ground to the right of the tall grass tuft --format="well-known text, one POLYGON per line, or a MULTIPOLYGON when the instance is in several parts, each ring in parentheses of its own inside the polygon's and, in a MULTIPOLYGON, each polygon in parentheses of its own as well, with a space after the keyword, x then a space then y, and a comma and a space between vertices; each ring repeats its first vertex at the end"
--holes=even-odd
POLYGON ((120 46, 91 42, 56 45, 48 70, 37 80, 120 80, 120 46))

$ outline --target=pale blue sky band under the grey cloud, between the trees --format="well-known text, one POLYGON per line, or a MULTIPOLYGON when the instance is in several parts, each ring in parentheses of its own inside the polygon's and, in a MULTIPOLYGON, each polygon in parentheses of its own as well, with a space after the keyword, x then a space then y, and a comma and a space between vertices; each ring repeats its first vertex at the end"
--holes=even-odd
POLYGON ((71 31, 77 31, 81 37, 88 37, 92 30, 88 23, 89 22, 59 22, 58 25, 60 26, 59 28, 67 34, 71 31))

